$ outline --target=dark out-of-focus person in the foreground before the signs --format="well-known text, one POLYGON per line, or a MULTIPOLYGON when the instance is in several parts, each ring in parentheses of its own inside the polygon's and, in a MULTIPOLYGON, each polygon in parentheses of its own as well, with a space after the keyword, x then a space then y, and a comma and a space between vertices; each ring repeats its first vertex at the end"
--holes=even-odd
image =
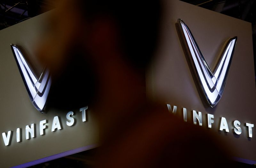
MULTIPOLYGON (((96 167, 216 167, 229 164, 217 139, 146 97, 160 1, 59 1, 38 45, 50 69, 48 107, 89 105, 101 147, 96 167)), ((229 165, 230 166, 230 165, 229 165)))

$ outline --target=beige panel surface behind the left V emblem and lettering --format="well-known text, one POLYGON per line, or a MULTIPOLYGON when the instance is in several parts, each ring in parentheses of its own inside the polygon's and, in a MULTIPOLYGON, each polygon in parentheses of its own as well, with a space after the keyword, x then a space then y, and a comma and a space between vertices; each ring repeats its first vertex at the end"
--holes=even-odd
MULTIPOLYGON (((0 31, 1 167, 12 167, 20 164, 28 166, 44 162, 93 148, 98 142, 97 125, 90 107, 86 110, 85 122, 83 122, 83 115, 79 108, 73 109, 74 115, 72 117, 75 118, 76 122, 73 126, 68 126, 71 125, 66 123, 70 121, 66 117, 69 111, 48 109, 44 114, 41 114, 29 99, 10 44, 22 46, 36 64, 33 47, 36 46, 36 40, 40 40, 45 24, 44 20, 48 14, 44 13, 0 31), (60 127, 57 128, 59 126, 57 122, 56 129, 52 132, 54 117, 55 122, 56 118, 59 118, 61 129, 59 129, 60 127), (47 120, 47 123, 43 124, 47 125, 47 128, 44 129, 45 135, 40 135, 40 121, 44 120, 47 120), (31 128, 33 124, 35 128, 34 138, 33 134, 30 134, 30 139, 26 139, 26 126, 31 128), (18 131, 20 131, 21 142, 17 142, 17 137, 20 137, 17 136, 17 128, 20 128, 18 131), (3 136, 6 136, 8 140, 8 131, 12 131, 12 136, 10 134, 10 145, 5 146, 3 136)), ((42 126, 42 128, 44 127, 42 126)))

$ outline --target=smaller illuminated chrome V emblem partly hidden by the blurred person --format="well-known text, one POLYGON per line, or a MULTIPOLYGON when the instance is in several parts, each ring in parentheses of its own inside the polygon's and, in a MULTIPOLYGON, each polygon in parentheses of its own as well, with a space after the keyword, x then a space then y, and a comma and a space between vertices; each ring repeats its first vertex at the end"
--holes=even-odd
POLYGON ((29 66, 20 49, 14 44, 11 44, 11 48, 29 98, 35 108, 43 113, 51 86, 49 70, 44 67, 40 77, 36 77, 35 71, 29 66))

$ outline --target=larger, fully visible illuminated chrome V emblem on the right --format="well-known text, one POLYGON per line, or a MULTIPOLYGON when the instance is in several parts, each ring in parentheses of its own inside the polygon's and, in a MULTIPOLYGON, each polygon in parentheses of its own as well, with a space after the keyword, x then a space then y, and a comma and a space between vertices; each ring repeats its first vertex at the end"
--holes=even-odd
POLYGON ((188 26, 178 19, 178 27, 204 95, 210 106, 214 107, 220 101, 225 88, 237 37, 228 40, 219 63, 212 72, 188 26))

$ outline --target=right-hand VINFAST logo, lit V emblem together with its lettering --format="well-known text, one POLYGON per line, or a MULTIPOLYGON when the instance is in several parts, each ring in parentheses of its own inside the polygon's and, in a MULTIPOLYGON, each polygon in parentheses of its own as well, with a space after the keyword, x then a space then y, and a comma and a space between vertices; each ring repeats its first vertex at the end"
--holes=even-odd
MULTIPOLYGON (((203 93, 209 103, 209 105, 213 108, 220 101, 220 98, 223 94, 225 84, 228 77, 228 72, 231 66, 231 61, 233 58, 233 54, 236 47, 237 37, 231 38, 228 40, 226 46, 223 49, 220 60, 214 70, 212 72, 211 68, 207 64, 204 56, 199 49, 199 46, 196 43, 195 38, 193 37, 191 31, 188 26, 184 23, 183 20, 178 19, 178 28, 181 38, 183 40, 183 44, 187 50, 187 54, 189 60, 194 69, 194 73, 197 76, 197 79, 200 84, 200 88, 202 88, 203 93)), ((168 110, 172 113, 177 112, 177 106, 171 107, 171 105, 167 104, 168 110)), ((187 109, 182 108, 184 121, 187 122, 187 109)), ((192 110, 193 115, 193 123, 196 124, 198 121, 199 126, 203 125, 203 116, 202 112, 196 110, 192 110)), ((214 115, 206 114, 206 120, 208 123, 208 128, 212 128, 212 124, 214 123, 214 115)), ((247 137, 252 137, 252 128, 254 124, 245 123, 245 127, 247 127, 247 137)), ((242 133, 241 122, 235 120, 232 122, 233 132, 236 135, 240 135, 242 133)), ((225 132, 229 132, 228 122, 225 117, 220 117, 219 121, 219 131, 224 130, 225 132)))

